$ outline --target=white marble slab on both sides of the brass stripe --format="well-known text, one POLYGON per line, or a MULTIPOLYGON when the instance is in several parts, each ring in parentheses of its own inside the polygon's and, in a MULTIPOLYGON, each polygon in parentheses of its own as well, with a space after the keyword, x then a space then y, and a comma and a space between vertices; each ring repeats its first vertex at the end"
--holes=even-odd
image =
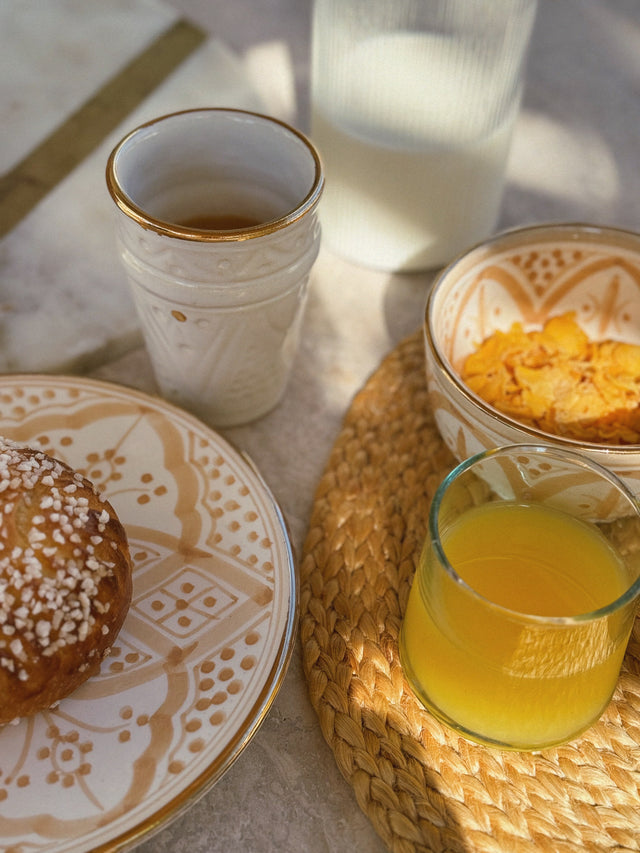
MULTIPOLYGON (((11 39, 11 51, 0 50, 0 72, 7 72, 0 73, 0 123, 10 128, 9 153, 4 147, 0 151, 6 154, 7 171, 18 155, 44 139, 179 18, 178 11, 156 0, 92 0, 86 6, 75 0, 49 5, 26 0, 26 23, 19 26, 23 12, 9 16, 5 7, 12 5, 10 0, 0 2, 0 27, 7 24, 6 30, 0 29, 2 44, 5 34, 11 39), (36 6, 49 13, 37 28, 36 6), (54 7, 59 17, 52 13, 54 7), (47 31, 51 39, 42 55, 40 44, 48 42, 47 31), (28 42, 24 53, 16 49, 20 38, 28 42), (117 50, 106 49, 110 43, 117 50), (37 64, 29 78, 26 69, 33 56, 37 64), (47 67, 48 74, 43 70, 47 67), (11 88, 8 81, 13 81, 11 88)), ((269 108, 244 64, 215 38, 189 56, 4 237, 0 370, 80 372, 140 344, 129 287, 116 266, 115 208, 105 184, 106 161, 118 140, 140 123, 202 105, 269 108)))

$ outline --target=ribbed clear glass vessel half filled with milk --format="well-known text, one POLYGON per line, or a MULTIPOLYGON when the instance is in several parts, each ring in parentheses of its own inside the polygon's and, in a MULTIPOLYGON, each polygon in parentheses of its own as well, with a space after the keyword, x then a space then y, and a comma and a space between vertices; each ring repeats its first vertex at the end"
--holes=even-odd
POLYGON ((327 244, 441 266, 494 227, 536 0, 315 0, 311 137, 327 244))

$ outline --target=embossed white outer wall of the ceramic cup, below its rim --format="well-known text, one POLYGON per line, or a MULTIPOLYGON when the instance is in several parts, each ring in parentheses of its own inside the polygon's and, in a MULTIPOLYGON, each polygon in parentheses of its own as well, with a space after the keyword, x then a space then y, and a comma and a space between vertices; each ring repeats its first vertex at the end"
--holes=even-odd
POLYGON ((117 237, 163 395, 217 426, 272 409, 298 349, 316 217, 226 243, 214 263, 206 244, 168 241, 125 217, 117 237))

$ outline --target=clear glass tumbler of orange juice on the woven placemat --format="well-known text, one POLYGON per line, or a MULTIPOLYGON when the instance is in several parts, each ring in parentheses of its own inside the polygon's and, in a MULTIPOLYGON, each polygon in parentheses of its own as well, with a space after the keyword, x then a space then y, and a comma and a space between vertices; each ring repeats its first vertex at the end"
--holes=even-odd
POLYGON ((422 703, 462 735, 542 749, 609 703, 640 592, 640 507, 578 454, 478 454, 437 491, 400 635, 422 703))

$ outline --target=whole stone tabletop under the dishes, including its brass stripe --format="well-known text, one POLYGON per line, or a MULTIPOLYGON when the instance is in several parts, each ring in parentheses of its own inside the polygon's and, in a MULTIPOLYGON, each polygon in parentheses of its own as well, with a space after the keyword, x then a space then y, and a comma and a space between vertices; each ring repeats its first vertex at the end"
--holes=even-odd
MULTIPOLYGON (((0 0, 0 370, 156 391, 112 242, 106 155, 123 130, 174 106, 259 108, 308 130, 309 22, 310 0, 0 0), (168 32, 150 81, 141 55, 168 32), (127 85, 105 102, 123 69, 127 85), (100 130, 79 142, 79 126, 100 130), (46 173, 43 142, 59 152, 46 173)), ((640 230, 639 142, 640 4, 540 0, 499 227, 640 230)), ((298 553, 350 401, 420 325, 433 275, 388 275, 323 248, 284 399, 223 433, 257 464, 298 553)), ((246 749, 136 849, 382 853, 322 738, 297 646, 246 749)))

